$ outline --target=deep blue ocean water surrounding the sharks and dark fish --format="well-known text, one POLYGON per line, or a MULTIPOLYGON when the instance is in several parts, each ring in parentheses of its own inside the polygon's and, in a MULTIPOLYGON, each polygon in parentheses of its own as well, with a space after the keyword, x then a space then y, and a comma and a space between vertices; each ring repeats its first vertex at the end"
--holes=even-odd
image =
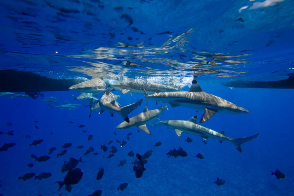
MULTIPOLYGON (((83 106, 72 110, 51 108, 40 96, 36 100, 0 96, 0 131, 4 132, 0 135, 0 145, 16 143, 0 152, 0 194, 51 195, 58 189, 53 183, 62 181, 66 175, 60 171, 62 163, 71 157, 78 159, 91 146, 99 154, 90 153, 82 158, 86 163, 78 163, 77 167, 84 172, 81 181, 72 185, 71 193, 63 187, 54 195, 89 195, 95 190, 102 190, 102 195, 294 195, 293 89, 235 88, 220 84, 235 80, 282 80, 294 70, 293 1, 253 3, 213 0, 1 2, 0 70, 31 71, 56 79, 103 77, 112 83, 127 77, 147 79, 180 85, 182 90, 189 90, 195 78, 203 91, 250 111, 239 115, 216 113, 201 125, 225 131, 230 138, 260 135, 243 144, 243 153, 239 153, 228 142, 220 144, 207 139, 204 144, 202 138, 186 133, 178 137, 173 129, 159 125, 159 120, 147 124, 152 133, 147 135, 143 131, 138 133, 136 127, 117 130, 116 126, 123 122, 118 114, 111 117, 108 112, 101 115, 93 112, 88 118, 89 109, 83 106), (246 5, 247 9, 238 11, 246 5), (128 14, 133 24, 128 26, 129 21, 121 19, 122 14, 128 14), (240 17, 243 21, 238 19, 240 17), (129 61, 135 65, 127 66, 129 61), (12 126, 7 126, 9 122, 12 126), (80 124, 86 126, 78 128, 80 124), (13 136, 5 134, 9 130, 14 130, 13 136), (132 133, 130 140, 126 140, 128 133, 132 133), (90 141, 87 140, 89 134, 93 135, 90 141), (31 138, 23 135, 31 135, 31 138), (192 143, 185 142, 187 136, 193 139, 192 143), (29 146, 38 139, 44 142, 29 146), (113 143, 107 145, 110 140, 113 143), (128 143, 120 147, 116 140, 128 143), (159 141, 162 145, 154 147, 159 141), (56 158, 61 146, 69 142, 73 145, 66 155, 56 158), (106 144, 108 151, 103 153, 100 144, 106 144), (78 145, 84 148, 76 149, 78 145), (118 152, 107 159, 112 145, 118 152), (56 150, 50 160, 38 163, 30 158, 31 154, 47 155, 51 147, 56 150), (168 158, 166 153, 179 147, 188 156, 168 158), (141 155, 147 150, 153 151, 141 178, 136 179, 133 172, 132 162, 136 158, 127 155, 130 150, 141 155), (195 153, 205 158, 195 158, 195 153), (118 167, 123 159, 127 160, 126 164, 118 167), (26 167, 29 163, 34 167, 26 167), (99 167, 105 169, 105 175, 96 180, 99 167), (286 175, 285 179, 270 176, 270 170, 277 169, 286 175), (30 172, 36 175, 50 172, 52 176, 41 181, 17 180, 30 172), (217 177, 225 180, 225 184, 218 187, 214 183, 217 177), (128 187, 118 191, 117 187, 124 182, 128 187)), ((8 83, 2 85, 9 86, 8 83)), ((88 100, 73 100, 72 94, 79 95, 76 91, 42 93, 44 97, 53 96, 60 101, 88 104, 88 100)), ((120 95, 117 101, 121 105, 143 99, 129 118, 143 111, 143 94, 131 96, 118 90, 113 93, 120 95)), ((101 95, 98 93, 97 98, 101 95)), ((149 110, 161 105, 164 103, 156 105, 154 100, 148 101, 149 110)), ((168 109, 159 116, 160 120, 188 120, 194 115, 200 119, 203 114, 184 107, 168 105, 168 109)))

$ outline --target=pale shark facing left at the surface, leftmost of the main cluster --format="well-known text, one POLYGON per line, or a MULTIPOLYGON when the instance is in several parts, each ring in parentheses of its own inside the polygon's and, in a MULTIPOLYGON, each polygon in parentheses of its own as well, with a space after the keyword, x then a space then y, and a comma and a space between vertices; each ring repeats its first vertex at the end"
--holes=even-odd
POLYGON ((69 90, 76 90, 81 93, 99 93, 105 91, 106 84, 102 78, 93 78, 69 87, 69 90))

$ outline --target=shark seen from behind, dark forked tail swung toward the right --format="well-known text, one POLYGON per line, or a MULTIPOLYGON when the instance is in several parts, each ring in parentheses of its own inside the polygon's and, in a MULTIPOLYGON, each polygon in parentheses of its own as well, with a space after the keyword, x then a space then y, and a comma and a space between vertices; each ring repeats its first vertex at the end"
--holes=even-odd
POLYGON ((110 88, 108 87, 106 92, 103 93, 99 100, 99 105, 101 108, 99 114, 102 114, 104 111, 108 111, 111 117, 113 117, 113 113, 119 113, 119 115, 121 115, 121 117, 129 123, 130 120, 128 118, 128 113, 136 109, 138 105, 141 105, 143 99, 140 99, 135 103, 123 107, 121 107, 121 105, 116 101, 116 99, 117 96, 111 93, 110 88))

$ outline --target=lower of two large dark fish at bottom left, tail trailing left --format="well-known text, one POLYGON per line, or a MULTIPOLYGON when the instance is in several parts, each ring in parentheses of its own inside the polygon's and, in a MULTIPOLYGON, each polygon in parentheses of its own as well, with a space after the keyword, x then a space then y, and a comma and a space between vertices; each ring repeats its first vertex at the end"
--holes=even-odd
MULTIPOLYGON (((75 168, 73 170, 70 170, 69 172, 67 172, 66 176, 64 177, 64 181, 61 182, 54 182, 54 183, 58 183, 59 185, 59 189, 56 191, 58 192, 63 185, 65 185, 65 190, 67 190, 67 192, 71 192, 71 185, 75 185, 78 182, 80 182, 80 180, 83 177, 83 170, 81 170, 80 168, 75 168)), ((56 193, 54 192, 54 193, 56 193)), ((54 194, 52 193, 52 194, 54 194)))

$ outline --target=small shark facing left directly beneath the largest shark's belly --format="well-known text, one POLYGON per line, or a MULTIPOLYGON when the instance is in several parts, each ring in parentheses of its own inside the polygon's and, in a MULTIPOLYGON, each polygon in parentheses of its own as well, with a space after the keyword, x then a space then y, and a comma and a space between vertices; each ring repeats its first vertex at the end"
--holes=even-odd
POLYGON ((151 134, 151 132, 146 127, 146 124, 151 120, 158 118, 159 115, 163 113, 164 110, 168 110, 167 105, 158 109, 148 110, 147 106, 145 107, 144 111, 132 118, 129 119, 129 123, 126 121, 122 122, 121 124, 117 125, 117 129, 127 129, 132 126, 138 127, 142 131, 147 134, 151 134))

